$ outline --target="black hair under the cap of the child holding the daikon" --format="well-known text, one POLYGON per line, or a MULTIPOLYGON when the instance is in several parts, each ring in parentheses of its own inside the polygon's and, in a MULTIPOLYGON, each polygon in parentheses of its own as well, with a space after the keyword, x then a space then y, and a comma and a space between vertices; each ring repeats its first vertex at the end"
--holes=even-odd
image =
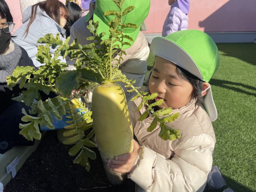
POLYGON ((189 73, 187 70, 182 67, 176 65, 176 71, 180 75, 180 77, 186 81, 188 81, 193 86, 192 97, 196 99, 198 104, 202 103, 203 98, 201 97, 202 89, 203 89, 203 81, 199 79, 197 76, 189 73))

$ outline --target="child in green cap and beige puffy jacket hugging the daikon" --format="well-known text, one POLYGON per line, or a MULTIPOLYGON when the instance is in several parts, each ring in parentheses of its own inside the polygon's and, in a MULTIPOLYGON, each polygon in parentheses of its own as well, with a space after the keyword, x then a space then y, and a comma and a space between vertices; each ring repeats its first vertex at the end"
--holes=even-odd
POLYGON ((151 51, 155 63, 150 72, 148 89, 158 93, 155 99, 164 99, 159 108, 172 107, 180 113, 173 129, 180 129, 181 137, 164 141, 147 128, 154 117, 143 122, 139 116, 146 110, 136 111, 141 99, 128 103, 134 135, 134 151, 110 159, 108 166, 116 172, 128 172, 141 190, 138 191, 203 191, 212 167, 215 134, 212 121, 217 110, 208 83, 216 72, 219 53, 214 41, 198 30, 183 30, 167 37, 152 40, 151 51))

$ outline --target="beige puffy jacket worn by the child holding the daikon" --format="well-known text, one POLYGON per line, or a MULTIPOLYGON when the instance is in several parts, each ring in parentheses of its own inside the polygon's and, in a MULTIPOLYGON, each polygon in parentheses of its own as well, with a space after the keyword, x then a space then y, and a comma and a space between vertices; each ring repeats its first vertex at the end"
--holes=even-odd
POLYGON ((128 103, 134 135, 142 145, 139 156, 128 174, 142 189, 149 192, 203 191, 207 175, 212 167, 212 153, 215 134, 208 114, 201 106, 190 101, 172 113, 180 113, 174 121, 167 123, 173 129, 180 129, 181 137, 175 141, 164 141, 158 134, 160 127, 147 132, 153 118, 148 116, 142 122, 136 108, 141 99, 128 103))

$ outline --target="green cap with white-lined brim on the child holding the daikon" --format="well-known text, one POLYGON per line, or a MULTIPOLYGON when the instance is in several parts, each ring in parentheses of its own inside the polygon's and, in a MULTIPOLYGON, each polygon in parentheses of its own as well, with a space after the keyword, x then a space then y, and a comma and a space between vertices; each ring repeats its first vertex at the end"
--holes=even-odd
MULTIPOLYGON (((209 82, 220 64, 219 51, 206 33, 199 30, 182 30, 151 42, 154 56, 162 57, 184 68, 204 82, 209 82)), ((204 98, 204 109, 211 121, 217 119, 211 88, 204 98)))

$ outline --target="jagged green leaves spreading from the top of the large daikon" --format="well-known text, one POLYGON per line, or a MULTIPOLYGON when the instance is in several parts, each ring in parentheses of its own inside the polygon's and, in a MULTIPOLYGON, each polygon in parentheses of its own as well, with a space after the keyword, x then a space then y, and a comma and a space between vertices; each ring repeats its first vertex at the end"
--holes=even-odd
POLYGON ((139 91, 140 87, 134 87, 132 79, 127 79, 119 69, 120 63, 123 60, 122 55, 126 54, 123 51, 124 45, 130 45, 133 39, 123 34, 124 28, 137 28, 133 23, 122 23, 122 17, 129 14, 134 6, 129 6, 122 11, 124 0, 113 0, 120 8, 120 11, 106 11, 105 16, 116 16, 111 20, 109 25, 109 36, 106 38, 106 33, 98 34, 99 23, 93 20, 89 21, 87 28, 92 33, 87 41, 91 42, 88 45, 80 45, 75 39, 73 43, 68 45, 69 38, 64 42, 60 39, 60 34, 55 37, 52 34, 47 34, 38 40, 38 43, 45 45, 38 46, 36 57, 42 66, 34 67, 17 67, 12 76, 7 78, 7 84, 10 89, 19 84, 23 88, 23 93, 14 98, 16 101, 22 101, 27 106, 31 107, 29 114, 23 110, 24 117, 22 120, 26 124, 20 124, 20 134, 28 140, 40 139, 41 133, 39 126, 47 126, 49 129, 55 129, 53 125, 53 116, 62 120, 65 115, 69 120, 68 125, 64 128, 64 136, 68 137, 63 143, 74 144, 70 149, 69 154, 76 156, 73 163, 79 163, 85 166, 89 171, 89 160, 95 159, 95 153, 88 147, 95 147, 91 141, 94 131, 92 129, 92 112, 86 110, 86 106, 78 99, 86 90, 93 88, 101 83, 123 82, 128 91, 135 91, 137 94, 132 99, 141 98, 142 102, 138 109, 144 105, 147 110, 139 120, 147 118, 148 113, 155 116, 148 131, 153 131, 158 123, 160 123, 161 131, 159 136, 164 140, 174 140, 180 137, 180 131, 168 127, 165 123, 175 120, 179 114, 171 113, 170 109, 161 109, 154 111, 154 106, 162 104, 163 100, 151 103, 157 97, 156 93, 148 94, 147 92, 139 91), (104 40, 101 40, 104 39, 104 40), (128 39, 130 42, 124 42, 128 39), (50 53, 50 47, 55 49, 54 56, 50 53), (76 70, 67 71, 66 63, 61 63, 60 57, 70 57, 75 59, 74 66, 76 70), (77 90, 79 93, 71 92, 77 90), (42 94, 55 94, 55 97, 42 100, 42 94), (78 110, 79 109, 79 110, 78 110), (161 116, 161 117, 160 117, 161 116), (88 132, 87 135, 85 135, 88 132))

